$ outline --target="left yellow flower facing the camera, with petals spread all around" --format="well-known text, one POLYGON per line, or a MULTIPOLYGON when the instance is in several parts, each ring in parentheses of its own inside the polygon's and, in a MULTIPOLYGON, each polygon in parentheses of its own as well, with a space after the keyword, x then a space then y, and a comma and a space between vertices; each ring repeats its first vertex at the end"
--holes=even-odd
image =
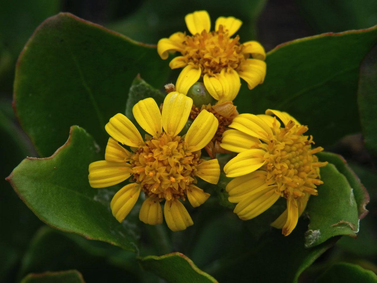
POLYGON ((201 159, 201 149, 211 140, 218 127, 215 116, 202 111, 187 134, 179 132, 185 126, 192 107, 192 99, 178 92, 170 92, 162 113, 153 98, 146 98, 133 106, 138 124, 152 137, 141 138, 139 131, 123 114, 110 118, 105 129, 111 136, 106 146, 105 160, 89 165, 89 183, 93 188, 118 184, 132 175, 130 183, 113 197, 110 208, 116 220, 123 221, 144 191, 139 218, 144 223, 162 223, 160 202, 166 200, 164 214, 172 231, 193 225, 193 221, 179 199, 189 199, 193 207, 210 196, 198 188, 196 177, 217 184, 220 167, 217 159, 201 159), (122 145, 130 146, 133 152, 122 145))

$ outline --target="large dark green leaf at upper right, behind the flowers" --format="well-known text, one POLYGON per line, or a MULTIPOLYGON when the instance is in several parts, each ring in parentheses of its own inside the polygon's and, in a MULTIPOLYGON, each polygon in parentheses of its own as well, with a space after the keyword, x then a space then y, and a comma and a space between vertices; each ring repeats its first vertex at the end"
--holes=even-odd
POLYGON ((318 145, 331 145, 360 131, 356 118, 359 65, 376 43, 375 27, 279 45, 267 54, 264 83, 251 91, 242 83, 234 105, 240 113, 263 114, 268 108, 286 111, 308 125, 308 134, 318 145))

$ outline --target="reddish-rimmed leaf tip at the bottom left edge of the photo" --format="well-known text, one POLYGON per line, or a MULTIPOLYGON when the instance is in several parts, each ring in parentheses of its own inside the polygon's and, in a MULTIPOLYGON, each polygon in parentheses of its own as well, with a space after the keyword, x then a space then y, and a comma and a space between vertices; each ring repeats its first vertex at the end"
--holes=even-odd
POLYGON ((31 273, 21 283, 85 283, 83 275, 77 270, 31 273))

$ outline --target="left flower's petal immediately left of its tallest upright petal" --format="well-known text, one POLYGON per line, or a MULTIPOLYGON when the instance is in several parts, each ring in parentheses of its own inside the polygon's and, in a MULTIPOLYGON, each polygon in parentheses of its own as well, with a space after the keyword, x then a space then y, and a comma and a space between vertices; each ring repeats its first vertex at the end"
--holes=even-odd
POLYGON ((151 97, 140 100, 132 108, 136 122, 148 134, 159 136, 162 132, 162 118, 160 108, 151 97))

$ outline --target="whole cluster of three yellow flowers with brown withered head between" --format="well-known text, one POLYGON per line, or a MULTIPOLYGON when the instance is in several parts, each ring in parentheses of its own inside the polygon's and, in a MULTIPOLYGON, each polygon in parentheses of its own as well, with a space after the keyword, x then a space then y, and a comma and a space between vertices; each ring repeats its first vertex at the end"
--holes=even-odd
POLYGON ((312 136, 303 135, 301 125, 286 112, 267 109, 265 114, 238 114, 232 101, 239 92, 240 78, 253 89, 263 83, 266 74, 265 51, 255 41, 239 43, 232 37, 242 22, 234 17, 219 17, 215 31, 210 31, 206 11, 185 17, 192 35, 176 32, 162 38, 157 45, 162 59, 168 52, 178 51, 172 69, 183 68, 174 89, 167 94, 162 109, 152 98, 139 101, 132 112, 139 126, 147 132, 143 139, 135 125, 123 114, 110 118, 105 126, 111 136, 105 160, 89 165, 89 183, 93 188, 118 184, 130 178, 131 183, 113 197, 110 207, 118 221, 129 214, 141 191, 145 200, 139 218, 144 223, 162 223, 163 204, 167 225, 180 231, 193 225, 182 204, 186 197, 193 207, 210 196, 198 188, 197 177, 217 184, 220 165, 216 152, 237 155, 224 166, 228 200, 237 203, 234 212, 242 220, 261 214, 280 197, 287 200, 287 209, 272 226, 289 235, 297 224, 310 195, 317 195, 322 184, 319 162, 312 148, 312 136), (187 96, 198 81, 204 83, 215 105, 193 105, 187 96), (182 133, 187 120, 193 123, 182 133), (229 129, 231 128, 231 129, 229 129), (127 150, 122 145, 129 146, 127 150), (205 148, 210 160, 201 158, 205 148))

